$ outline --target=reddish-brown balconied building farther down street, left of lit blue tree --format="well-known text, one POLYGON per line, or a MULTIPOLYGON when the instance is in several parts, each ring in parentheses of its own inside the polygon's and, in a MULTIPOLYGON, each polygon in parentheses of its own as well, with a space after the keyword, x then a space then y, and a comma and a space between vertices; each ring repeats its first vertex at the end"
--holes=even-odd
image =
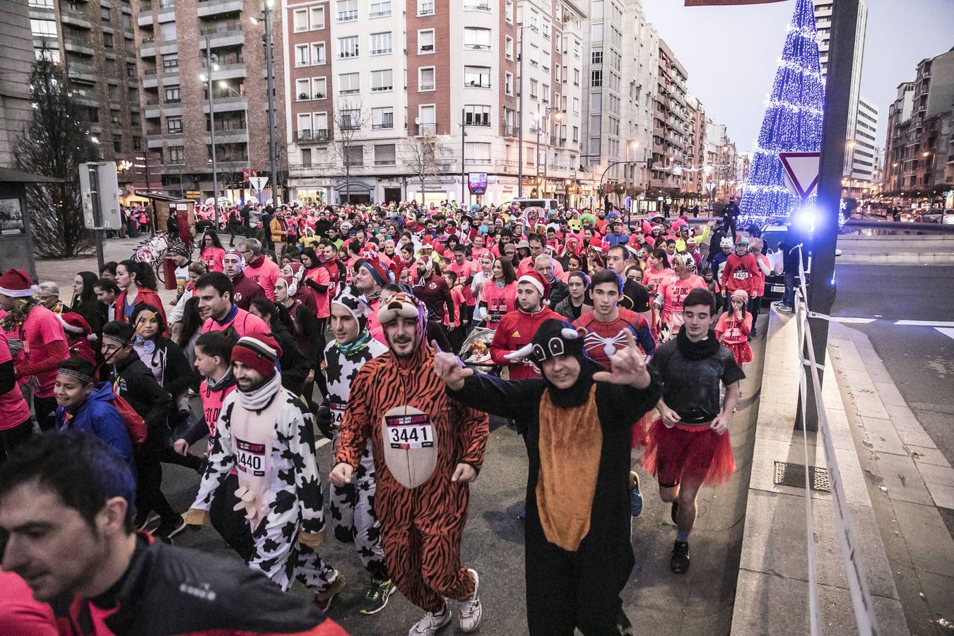
POLYGON ((689 73, 675 58, 665 40, 659 38, 659 72, 656 77, 653 111, 653 171, 650 188, 661 193, 685 191, 689 109, 686 80, 689 73))

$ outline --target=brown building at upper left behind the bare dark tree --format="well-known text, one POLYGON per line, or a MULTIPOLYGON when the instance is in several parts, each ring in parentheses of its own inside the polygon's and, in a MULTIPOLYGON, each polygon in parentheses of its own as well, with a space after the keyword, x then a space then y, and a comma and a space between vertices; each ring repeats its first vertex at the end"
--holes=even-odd
MULTIPOLYGON (((144 148, 129 0, 29 0, 37 59, 62 64, 101 157, 133 162, 144 148)), ((131 182, 132 172, 119 174, 131 182)))

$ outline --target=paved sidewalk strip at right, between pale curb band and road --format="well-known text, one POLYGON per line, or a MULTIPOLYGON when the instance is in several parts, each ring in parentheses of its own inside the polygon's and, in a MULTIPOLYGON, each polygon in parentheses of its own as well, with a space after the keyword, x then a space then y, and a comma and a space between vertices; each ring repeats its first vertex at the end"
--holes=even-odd
POLYGON ((832 323, 828 350, 912 634, 954 632, 954 469, 902 399, 861 331, 832 323))

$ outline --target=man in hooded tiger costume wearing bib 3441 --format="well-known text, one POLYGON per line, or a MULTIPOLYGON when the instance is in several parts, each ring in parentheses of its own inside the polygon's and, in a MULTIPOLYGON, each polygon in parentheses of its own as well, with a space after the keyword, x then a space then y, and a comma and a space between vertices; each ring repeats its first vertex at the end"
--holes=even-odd
POLYGON ((447 397, 433 372, 421 300, 397 294, 382 303, 378 318, 388 352, 355 377, 331 482, 351 481, 370 440, 388 573, 425 610, 409 636, 430 636, 450 623, 445 598, 460 602, 461 629, 473 631, 482 613, 480 579, 461 563, 460 548, 468 483, 484 462, 487 416, 447 397))

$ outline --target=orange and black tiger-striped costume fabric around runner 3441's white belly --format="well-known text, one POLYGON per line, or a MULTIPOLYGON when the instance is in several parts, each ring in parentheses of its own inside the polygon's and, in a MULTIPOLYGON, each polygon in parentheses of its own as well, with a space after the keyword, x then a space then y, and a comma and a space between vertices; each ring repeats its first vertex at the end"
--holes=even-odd
POLYGON ((461 462, 480 470, 488 428, 487 415, 447 397, 444 382, 433 371, 425 320, 425 311, 419 310, 410 359, 399 360, 389 348, 358 372, 335 459, 357 469, 365 443, 371 441, 378 483, 375 510, 388 573, 411 603, 438 612, 445 597, 466 601, 475 592, 460 557, 469 486, 450 478, 461 462), (436 466, 416 488, 398 482, 384 460, 384 414, 401 406, 425 413, 437 440, 436 466))

